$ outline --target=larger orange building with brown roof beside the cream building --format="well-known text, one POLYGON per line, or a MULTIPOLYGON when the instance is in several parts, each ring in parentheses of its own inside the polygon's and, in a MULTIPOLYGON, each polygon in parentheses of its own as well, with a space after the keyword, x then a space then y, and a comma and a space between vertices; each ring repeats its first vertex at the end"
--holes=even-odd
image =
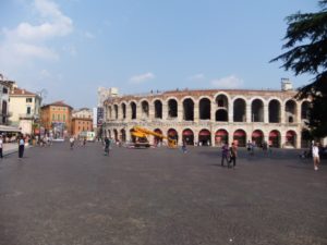
POLYGON ((71 135, 73 108, 63 101, 57 101, 41 107, 41 125, 53 138, 71 135))

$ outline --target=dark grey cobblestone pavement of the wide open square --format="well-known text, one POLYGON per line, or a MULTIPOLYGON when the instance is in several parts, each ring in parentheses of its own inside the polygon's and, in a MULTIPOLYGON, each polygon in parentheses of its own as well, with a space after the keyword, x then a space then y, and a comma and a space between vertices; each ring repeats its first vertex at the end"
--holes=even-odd
POLYGON ((1 245, 327 244, 327 164, 295 150, 34 147, 0 161, 1 245))

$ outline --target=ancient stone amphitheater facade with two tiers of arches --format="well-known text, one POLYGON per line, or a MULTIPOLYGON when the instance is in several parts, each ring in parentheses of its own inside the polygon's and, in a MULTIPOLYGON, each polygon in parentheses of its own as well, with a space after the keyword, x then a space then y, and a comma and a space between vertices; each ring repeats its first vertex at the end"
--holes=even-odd
MULTIPOLYGON (((264 142, 272 147, 307 147, 303 139, 310 101, 295 100, 290 90, 171 90, 112 96, 104 102, 102 134, 133 140, 138 125, 169 135, 181 145, 239 146, 264 142)), ((159 138, 150 136, 150 143, 159 138)))

